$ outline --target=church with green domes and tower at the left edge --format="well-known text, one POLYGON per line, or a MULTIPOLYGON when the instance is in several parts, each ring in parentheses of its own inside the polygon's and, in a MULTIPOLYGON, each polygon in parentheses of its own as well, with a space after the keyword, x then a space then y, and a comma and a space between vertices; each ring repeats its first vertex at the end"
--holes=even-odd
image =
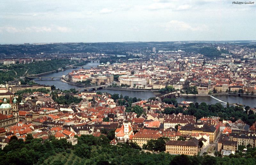
POLYGON ((10 103, 7 103, 6 98, 4 98, 3 104, 0 105, 0 127, 6 128, 15 125, 18 122, 18 101, 14 98, 12 102, 12 97, 10 97, 10 103))

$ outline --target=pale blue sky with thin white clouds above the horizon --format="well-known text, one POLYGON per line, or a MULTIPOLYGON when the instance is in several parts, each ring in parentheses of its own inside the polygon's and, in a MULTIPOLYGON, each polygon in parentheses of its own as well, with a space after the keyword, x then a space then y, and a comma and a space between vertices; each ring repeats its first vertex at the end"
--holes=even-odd
POLYGON ((256 40, 256 1, 232 2, 1 0, 0 43, 256 40))

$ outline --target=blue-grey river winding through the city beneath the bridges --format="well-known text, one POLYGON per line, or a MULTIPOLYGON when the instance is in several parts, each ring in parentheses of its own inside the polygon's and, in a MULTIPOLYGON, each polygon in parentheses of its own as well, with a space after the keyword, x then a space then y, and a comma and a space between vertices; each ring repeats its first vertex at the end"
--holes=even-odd
MULTIPOLYGON (((84 68, 90 68, 90 67, 97 67, 97 65, 99 65, 100 63, 88 63, 86 65, 84 65, 84 68)), ((62 75, 67 75, 69 72, 71 72, 72 70, 76 70, 76 69, 68 69, 62 72, 58 72, 58 73, 51 73, 48 75, 44 75, 45 77, 61 77, 62 75)), ((50 80, 50 79, 42 79, 42 81, 39 81, 38 79, 34 79, 34 81, 38 84, 45 84, 45 85, 55 85, 56 88, 62 89, 62 90, 68 90, 70 88, 81 88, 79 86, 76 85, 71 85, 68 83, 64 83, 62 81, 60 81, 60 79, 54 79, 54 80, 50 80)), ((123 96, 129 96, 129 97, 137 97, 137 98, 141 98, 141 99, 148 99, 149 97, 155 97, 157 94, 159 94, 158 92, 144 92, 144 91, 125 91, 125 90, 108 90, 108 89, 101 89, 101 90, 97 90, 100 92, 108 92, 110 94, 114 94, 114 93, 118 93, 119 95, 122 94, 123 96)), ((228 102, 228 103, 240 103, 243 105, 249 105, 250 107, 256 107, 256 97, 250 97, 249 96, 214 96, 215 98, 222 100, 224 102, 228 102)), ((182 96, 182 97, 178 97, 177 101, 181 102, 181 101, 193 101, 193 102, 198 102, 198 103, 202 103, 202 102, 206 102, 207 104, 215 104, 215 103, 219 103, 220 101, 210 97, 210 96, 182 96)), ((223 102, 220 102, 221 104, 225 104, 223 102)))

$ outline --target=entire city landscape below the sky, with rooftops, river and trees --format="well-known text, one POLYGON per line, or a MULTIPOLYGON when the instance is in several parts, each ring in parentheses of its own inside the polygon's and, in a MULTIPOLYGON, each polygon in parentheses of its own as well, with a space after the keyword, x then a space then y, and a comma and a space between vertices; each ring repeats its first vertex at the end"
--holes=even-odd
POLYGON ((255 41, 25 43, 0 54, 4 164, 256 163, 255 41), (177 101, 190 97, 216 103, 177 101))

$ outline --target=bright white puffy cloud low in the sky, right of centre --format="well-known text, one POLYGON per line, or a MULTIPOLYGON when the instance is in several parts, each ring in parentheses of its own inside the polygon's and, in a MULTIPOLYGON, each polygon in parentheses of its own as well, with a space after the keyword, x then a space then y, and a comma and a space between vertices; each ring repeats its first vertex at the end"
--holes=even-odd
POLYGON ((164 24, 164 27, 166 30, 179 30, 179 31, 205 31, 208 30, 208 27, 206 25, 200 25, 200 26, 191 26, 186 22, 183 21, 177 21, 177 20, 171 20, 170 22, 167 22, 164 24))

